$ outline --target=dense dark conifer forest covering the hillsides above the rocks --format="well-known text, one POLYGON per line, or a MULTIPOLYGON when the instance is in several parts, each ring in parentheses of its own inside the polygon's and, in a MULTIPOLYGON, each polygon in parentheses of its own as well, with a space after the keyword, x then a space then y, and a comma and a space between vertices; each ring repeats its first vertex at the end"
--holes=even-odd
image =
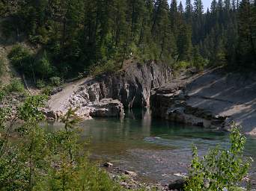
POLYGON ((256 1, 213 0, 205 12, 201 0, 178 2, 1 0, 0 16, 12 18, 1 27, 6 35, 15 31, 19 38, 23 32, 43 47, 37 63, 26 55, 23 64, 40 78, 67 78, 94 66, 112 69, 128 57, 255 68, 256 1))

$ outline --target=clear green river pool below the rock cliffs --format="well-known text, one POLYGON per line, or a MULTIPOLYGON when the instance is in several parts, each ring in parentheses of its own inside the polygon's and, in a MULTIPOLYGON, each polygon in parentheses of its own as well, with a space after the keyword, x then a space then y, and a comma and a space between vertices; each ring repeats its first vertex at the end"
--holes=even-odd
MULTIPOLYGON (((55 124, 57 128, 59 124, 55 124)), ((162 184, 186 173, 192 143, 199 153, 221 144, 228 147, 228 134, 165 120, 151 119, 150 111, 133 110, 124 119, 92 119, 82 122, 82 137, 94 159, 112 162, 137 172, 147 181, 162 184)), ((247 137, 246 156, 256 160, 256 139, 247 137)), ((250 172, 256 180, 256 163, 250 172)))

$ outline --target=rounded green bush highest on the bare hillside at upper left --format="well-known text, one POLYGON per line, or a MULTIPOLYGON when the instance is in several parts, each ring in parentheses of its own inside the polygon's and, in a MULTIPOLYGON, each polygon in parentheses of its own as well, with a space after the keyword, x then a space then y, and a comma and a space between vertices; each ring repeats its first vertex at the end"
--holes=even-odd
POLYGON ((33 56, 27 48, 16 45, 13 46, 8 54, 10 63, 13 64, 20 72, 25 72, 31 75, 32 63, 34 62, 33 56))

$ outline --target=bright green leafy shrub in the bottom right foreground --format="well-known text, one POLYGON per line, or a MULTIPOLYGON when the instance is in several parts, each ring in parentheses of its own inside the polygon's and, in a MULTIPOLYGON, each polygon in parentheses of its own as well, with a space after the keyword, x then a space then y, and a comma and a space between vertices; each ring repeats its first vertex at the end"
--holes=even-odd
POLYGON ((239 127, 232 126, 228 150, 217 146, 204 157, 199 157, 194 146, 186 191, 237 190, 237 184, 246 176, 250 162, 243 160, 246 137, 240 133, 239 127))

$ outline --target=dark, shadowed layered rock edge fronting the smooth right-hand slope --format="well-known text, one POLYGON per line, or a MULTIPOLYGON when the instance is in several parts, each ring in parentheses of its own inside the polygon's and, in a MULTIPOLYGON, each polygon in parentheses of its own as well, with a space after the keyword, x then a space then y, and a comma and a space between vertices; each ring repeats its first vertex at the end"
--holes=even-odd
POLYGON ((156 90, 150 98, 153 116, 204 128, 223 129, 228 125, 227 116, 189 105, 189 95, 186 95, 185 90, 182 82, 173 82, 156 90))

